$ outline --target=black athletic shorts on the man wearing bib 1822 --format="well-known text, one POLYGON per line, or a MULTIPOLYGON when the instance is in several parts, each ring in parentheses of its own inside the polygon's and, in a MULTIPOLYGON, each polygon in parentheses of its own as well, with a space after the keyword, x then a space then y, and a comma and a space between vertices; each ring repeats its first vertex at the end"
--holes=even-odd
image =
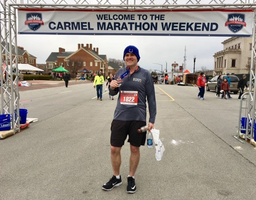
POLYGON ((110 144, 115 147, 122 147, 124 141, 129 135, 128 142, 132 146, 141 146, 145 144, 146 141, 146 132, 137 133, 137 129, 146 125, 146 122, 143 121, 122 121, 122 120, 113 120, 111 123, 111 137, 110 144))

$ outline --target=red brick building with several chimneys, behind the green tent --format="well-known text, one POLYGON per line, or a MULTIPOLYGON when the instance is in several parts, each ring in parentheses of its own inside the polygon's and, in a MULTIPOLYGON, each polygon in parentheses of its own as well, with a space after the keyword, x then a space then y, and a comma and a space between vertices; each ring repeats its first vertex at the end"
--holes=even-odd
POLYGON ((53 70, 59 66, 63 66, 69 70, 70 61, 79 61, 78 71, 86 68, 91 73, 108 74, 108 59, 106 55, 99 54, 99 48, 92 48, 92 44, 78 44, 78 49, 75 52, 65 51, 59 47, 58 52, 51 52, 46 59, 46 68, 53 70))

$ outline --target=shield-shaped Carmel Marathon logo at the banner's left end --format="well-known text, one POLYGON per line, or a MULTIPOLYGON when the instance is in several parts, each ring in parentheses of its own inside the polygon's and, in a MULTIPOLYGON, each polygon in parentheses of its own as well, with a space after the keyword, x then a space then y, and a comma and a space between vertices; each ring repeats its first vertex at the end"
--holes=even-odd
POLYGON ((42 21, 42 14, 38 12, 26 13, 25 25, 28 25, 28 28, 32 31, 38 30, 41 25, 44 25, 44 21, 42 21))

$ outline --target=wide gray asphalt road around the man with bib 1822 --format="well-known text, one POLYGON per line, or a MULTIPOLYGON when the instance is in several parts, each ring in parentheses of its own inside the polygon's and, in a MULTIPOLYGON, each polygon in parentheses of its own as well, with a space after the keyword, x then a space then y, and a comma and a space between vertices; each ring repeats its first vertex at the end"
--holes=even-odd
MULTIPOLYGON (((92 83, 20 92, 30 127, 0 140, 0 199, 255 199, 255 148, 240 143, 239 101, 198 88, 155 85, 155 128, 161 161, 141 147, 137 191, 126 193, 129 144, 122 148, 123 184, 101 189, 112 176, 109 140, 116 99, 95 98, 92 83)), ((22 108, 22 106, 21 106, 22 108)))

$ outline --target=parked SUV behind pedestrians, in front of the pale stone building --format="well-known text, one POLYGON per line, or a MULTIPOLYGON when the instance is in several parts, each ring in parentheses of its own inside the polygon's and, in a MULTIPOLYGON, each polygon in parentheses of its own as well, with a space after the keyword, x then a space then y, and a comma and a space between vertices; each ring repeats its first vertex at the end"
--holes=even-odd
MULTIPOLYGON (((215 77, 212 77, 211 80, 208 80, 208 83, 206 85, 206 90, 210 91, 210 90, 215 90, 217 92, 217 78, 219 77, 219 75, 216 75, 215 77)), ((224 80, 224 78, 226 78, 227 75, 222 75, 222 81, 224 80)), ((238 84, 238 77, 235 75, 230 75, 230 92, 234 92, 234 94, 238 93, 237 89, 237 84, 238 84)))

